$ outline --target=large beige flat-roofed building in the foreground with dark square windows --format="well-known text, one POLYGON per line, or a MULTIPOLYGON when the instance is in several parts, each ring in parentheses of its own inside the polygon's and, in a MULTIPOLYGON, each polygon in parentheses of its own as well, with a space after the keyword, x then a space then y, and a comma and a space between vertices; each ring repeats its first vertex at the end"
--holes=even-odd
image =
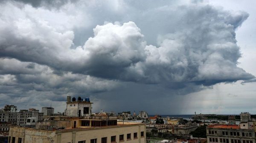
POLYGON ((38 130, 10 127, 9 143, 146 143, 145 125, 118 122, 114 126, 38 130))

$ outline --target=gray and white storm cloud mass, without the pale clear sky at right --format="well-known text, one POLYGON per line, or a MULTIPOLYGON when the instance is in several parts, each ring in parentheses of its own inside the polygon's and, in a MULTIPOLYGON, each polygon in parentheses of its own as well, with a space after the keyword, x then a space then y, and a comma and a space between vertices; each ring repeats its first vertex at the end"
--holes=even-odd
POLYGON ((41 105, 36 99, 63 101, 68 94, 100 99, 104 93, 117 99, 122 95, 111 91, 135 90, 132 84, 141 85, 141 94, 155 87, 165 89, 163 96, 179 95, 255 78, 237 67, 235 30, 249 16, 244 11, 201 2, 141 7, 137 1, 65 1, 49 9, 50 3, 0 4, 4 101, 29 97, 41 105))

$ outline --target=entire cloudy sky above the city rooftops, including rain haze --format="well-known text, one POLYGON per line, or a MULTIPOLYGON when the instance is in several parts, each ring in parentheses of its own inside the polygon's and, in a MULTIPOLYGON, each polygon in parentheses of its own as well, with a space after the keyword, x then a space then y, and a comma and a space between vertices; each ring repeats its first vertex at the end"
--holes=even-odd
POLYGON ((2 0, 0 107, 256 114, 255 4, 2 0))

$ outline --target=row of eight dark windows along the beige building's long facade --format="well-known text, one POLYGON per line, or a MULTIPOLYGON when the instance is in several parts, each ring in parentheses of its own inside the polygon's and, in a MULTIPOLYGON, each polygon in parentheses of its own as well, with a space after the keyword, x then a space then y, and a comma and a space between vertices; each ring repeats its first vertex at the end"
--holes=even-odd
MULTIPOLYGON (((144 137, 144 132, 140 132, 140 136, 144 137)), ((102 137, 101 143, 107 143, 108 137, 102 137)), ((127 134, 126 136, 127 140, 131 140, 131 133, 127 134)), ((137 139, 137 132, 134 133, 134 139, 137 139)), ((119 141, 124 141, 124 135, 119 135, 119 141)), ((116 142, 116 136, 111 136, 111 143, 116 142)), ((86 140, 81 140, 78 143, 86 143, 86 140)), ((91 139, 90 143, 97 143, 97 139, 91 139)))

